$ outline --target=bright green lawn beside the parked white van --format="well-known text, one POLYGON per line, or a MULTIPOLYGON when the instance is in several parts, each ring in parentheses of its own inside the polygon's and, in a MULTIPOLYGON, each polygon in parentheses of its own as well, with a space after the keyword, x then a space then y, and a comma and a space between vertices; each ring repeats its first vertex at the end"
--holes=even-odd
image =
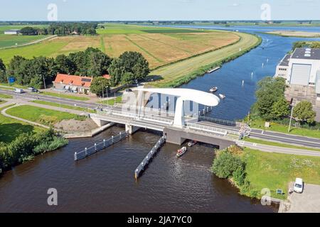
POLYGON ((289 182, 294 182, 296 177, 307 184, 320 184, 320 157, 263 153, 245 148, 243 159, 252 189, 261 192, 268 188, 274 198, 286 199, 289 182), (277 195, 277 189, 286 194, 277 195))

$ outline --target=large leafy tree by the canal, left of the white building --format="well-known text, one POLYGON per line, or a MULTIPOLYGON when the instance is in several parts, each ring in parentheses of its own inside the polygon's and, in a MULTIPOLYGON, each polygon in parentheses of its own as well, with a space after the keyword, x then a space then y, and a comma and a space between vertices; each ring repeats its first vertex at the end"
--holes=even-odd
POLYGON ((285 79, 280 77, 265 77, 257 84, 256 108, 260 117, 265 120, 272 119, 272 106, 279 99, 284 99, 286 89, 285 79))

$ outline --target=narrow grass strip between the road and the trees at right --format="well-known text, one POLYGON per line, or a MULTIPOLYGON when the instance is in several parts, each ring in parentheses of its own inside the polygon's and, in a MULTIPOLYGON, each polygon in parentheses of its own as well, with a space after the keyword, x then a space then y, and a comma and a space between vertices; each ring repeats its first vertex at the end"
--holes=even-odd
MULTIPOLYGON (((288 126, 280 125, 278 123, 270 123, 270 128, 265 128, 265 121, 262 120, 252 121, 250 123, 250 127, 260 128, 267 131, 276 131, 279 133, 288 133, 288 126)), ((320 138, 320 131, 310 130, 306 128, 291 128, 290 134, 320 138)))

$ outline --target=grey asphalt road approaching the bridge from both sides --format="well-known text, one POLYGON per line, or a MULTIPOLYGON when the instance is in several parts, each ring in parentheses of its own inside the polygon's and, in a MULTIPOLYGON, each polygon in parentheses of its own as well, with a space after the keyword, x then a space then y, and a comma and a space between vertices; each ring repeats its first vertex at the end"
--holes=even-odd
MULTIPOLYGON (((5 90, 0 88, 0 94, 9 94, 12 96, 15 96, 16 98, 20 99, 30 99, 30 100, 41 100, 41 101, 49 101, 53 103, 60 103, 60 104, 66 104, 71 106, 79 106, 83 108, 89 108, 89 109, 96 109, 97 107, 105 107, 107 108, 107 105, 102 104, 94 104, 87 101, 77 101, 73 99, 65 99, 60 97, 54 97, 54 96, 47 96, 42 94, 36 94, 31 92, 26 92, 23 94, 17 94, 12 90, 5 90)), ((110 108, 110 107, 109 107, 110 108)), ((112 109, 115 110, 121 110, 121 107, 114 106, 112 109)), ((208 121, 201 121, 201 124, 206 126, 211 126, 215 128, 221 128, 221 129, 228 129, 230 131, 239 131, 239 128, 236 126, 224 126, 220 125, 218 123, 212 123, 208 121)), ((260 129, 252 129, 251 131, 251 138, 257 138, 262 140, 272 140, 277 143, 288 143, 292 145, 302 145, 310 148, 320 148, 320 139, 316 138, 308 138, 304 136, 299 135, 289 135, 284 133, 276 133, 271 131, 262 131, 260 129)))

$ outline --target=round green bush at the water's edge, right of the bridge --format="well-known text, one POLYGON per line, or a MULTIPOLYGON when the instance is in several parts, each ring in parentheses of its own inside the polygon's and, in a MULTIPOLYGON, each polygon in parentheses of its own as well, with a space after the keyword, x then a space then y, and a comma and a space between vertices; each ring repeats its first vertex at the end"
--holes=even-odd
POLYGON ((233 172, 243 165, 240 157, 236 157, 225 150, 213 161, 212 171, 218 177, 225 179, 231 177, 233 172))

